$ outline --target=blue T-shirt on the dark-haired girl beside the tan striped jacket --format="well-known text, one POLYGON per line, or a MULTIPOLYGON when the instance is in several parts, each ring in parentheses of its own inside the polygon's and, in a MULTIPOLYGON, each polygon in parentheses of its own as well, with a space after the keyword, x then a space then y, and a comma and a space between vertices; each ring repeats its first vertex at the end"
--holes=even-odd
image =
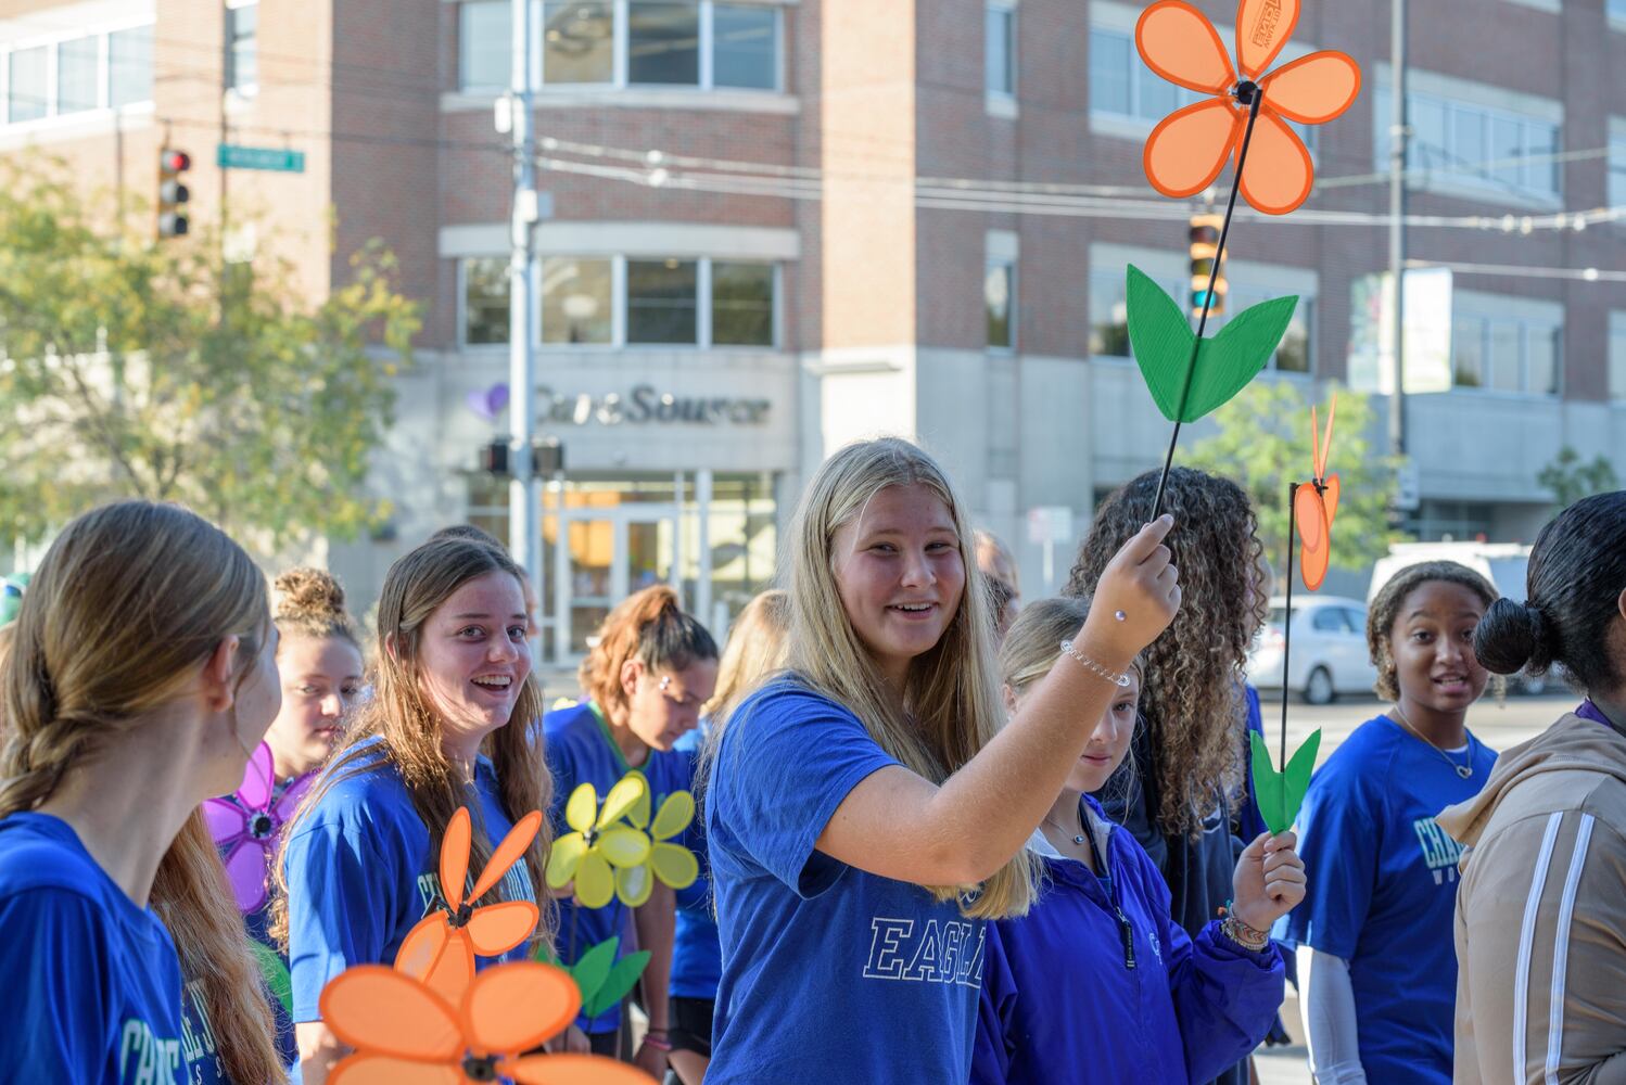
POLYGON ((1444 755, 1377 716, 1311 780, 1298 820, 1309 890, 1276 931, 1350 963, 1369 1082, 1450 1082, 1462 846, 1434 815, 1478 794, 1494 763, 1472 734, 1444 755))

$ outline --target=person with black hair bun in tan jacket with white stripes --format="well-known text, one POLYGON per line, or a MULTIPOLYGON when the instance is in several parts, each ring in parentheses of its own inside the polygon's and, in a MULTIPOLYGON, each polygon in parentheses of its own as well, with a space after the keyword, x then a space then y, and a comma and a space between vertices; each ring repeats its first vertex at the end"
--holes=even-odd
POLYGON ((1626 491, 1558 513, 1525 601, 1473 637, 1498 674, 1563 666, 1585 700, 1504 752, 1439 815, 1468 848, 1457 890, 1457 1082, 1626 1075, 1626 491))

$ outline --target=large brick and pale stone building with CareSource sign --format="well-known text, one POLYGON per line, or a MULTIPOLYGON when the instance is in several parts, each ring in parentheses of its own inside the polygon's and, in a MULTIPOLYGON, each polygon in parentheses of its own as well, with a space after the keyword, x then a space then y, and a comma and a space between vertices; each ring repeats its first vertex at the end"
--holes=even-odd
MULTIPOLYGON (((1200 6, 1228 34, 1233 10, 1200 6)), ((538 11, 537 414, 567 468, 543 508, 550 656, 650 580, 681 580, 707 617, 737 609, 811 466, 855 435, 940 453, 1029 591, 1029 508, 1081 531, 1161 461, 1122 268, 1182 289, 1187 208, 1158 201, 1140 151, 1185 99, 1135 57, 1137 5, 538 11)), ((1304 299, 1267 378, 1374 370, 1351 341, 1387 266, 1387 18, 1309 3, 1286 54, 1343 49, 1366 86, 1311 135, 1304 211, 1236 236, 1233 312, 1304 299)), ((1623 62, 1626 0, 1413 5, 1408 213, 1441 224, 1413 226, 1408 257, 1452 268, 1413 307, 1439 348, 1406 396, 1424 538, 1530 539, 1561 445, 1626 448, 1626 286, 1485 271, 1618 266, 1623 62)), ((472 468, 504 419, 468 400, 507 378, 507 65, 509 0, 0 0, 3 153, 37 145, 150 193, 158 148, 189 149, 193 214, 224 198, 234 245, 275 245, 314 294, 367 239, 400 257, 426 326, 377 468, 395 530, 328 555, 363 599, 434 526, 502 531, 506 489, 472 468), (299 149, 304 171, 221 175, 221 141, 299 149)))

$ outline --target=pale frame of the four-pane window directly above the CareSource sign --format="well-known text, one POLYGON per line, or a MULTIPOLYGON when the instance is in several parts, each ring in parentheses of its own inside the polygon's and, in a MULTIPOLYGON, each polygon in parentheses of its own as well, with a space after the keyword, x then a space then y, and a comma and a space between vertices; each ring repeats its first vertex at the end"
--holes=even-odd
MULTIPOLYGON (((720 351, 720 352, 763 352, 784 349, 784 262, 763 260, 756 257, 709 257, 696 253, 582 253, 582 252, 538 252, 538 265, 550 258, 576 260, 608 260, 610 262, 610 341, 608 343, 543 343, 541 339, 541 276, 537 276, 537 328, 533 348, 541 352, 611 352, 611 351, 720 351), (628 338, 628 262, 680 260, 693 262, 694 270, 694 343, 637 343, 628 338), (712 341, 712 265, 714 263, 751 263, 772 268, 769 286, 772 289, 772 313, 767 344, 748 343, 714 343, 712 341)), ((468 262, 499 260, 502 253, 455 257, 457 263, 457 348, 460 351, 506 351, 509 343, 470 343, 468 341, 468 262)))

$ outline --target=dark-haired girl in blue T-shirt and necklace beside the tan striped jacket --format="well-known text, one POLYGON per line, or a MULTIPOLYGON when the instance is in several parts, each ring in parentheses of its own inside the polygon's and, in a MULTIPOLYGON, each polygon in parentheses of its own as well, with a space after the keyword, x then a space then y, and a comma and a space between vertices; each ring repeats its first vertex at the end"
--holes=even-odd
POLYGON ((1488 674, 1473 632, 1496 603, 1455 562, 1400 570, 1372 599, 1366 643, 1377 695, 1311 781, 1299 835, 1315 871, 1288 916, 1315 1080, 1447 1085, 1462 849, 1434 815, 1485 786, 1496 754, 1467 728, 1488 674))

